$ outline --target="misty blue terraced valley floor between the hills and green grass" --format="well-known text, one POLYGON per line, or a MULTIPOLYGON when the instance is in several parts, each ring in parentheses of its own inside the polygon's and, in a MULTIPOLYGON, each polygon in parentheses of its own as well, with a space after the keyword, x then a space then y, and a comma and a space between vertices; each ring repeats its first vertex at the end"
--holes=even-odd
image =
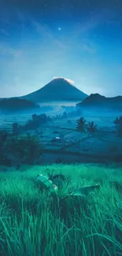
MULTIPOLYGON (((122 156, 122 138, 116 134, 116 125, 113 121, 120 113, 105 113, 105 117, 83 113, 87 122, 94 121, 97 130, 94 136, 88 132, 77 132, 77 117, 52 118, 47 124, 31 129, 25 134, 35 135, 44 147, 45 153, 41 163, 54 162, 107 162, 120 161, 122 156)), ((55 113, 56 114, 56 113, 55 113)), ((54 113, 53 113, 54 115, 54 113)), ((0 129, 12 132, 12 124, 24 125, 31 120, 31 114, 15 116, 1 116, 0 129)))

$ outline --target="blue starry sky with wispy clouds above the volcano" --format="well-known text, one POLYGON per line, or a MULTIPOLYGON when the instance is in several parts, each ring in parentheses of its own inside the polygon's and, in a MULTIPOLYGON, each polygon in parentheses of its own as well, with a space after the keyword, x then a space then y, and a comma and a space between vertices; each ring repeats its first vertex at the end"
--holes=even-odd
POLYGON ((60 76, 122 95, 121 0, 0 0, 0 98, 60 76))

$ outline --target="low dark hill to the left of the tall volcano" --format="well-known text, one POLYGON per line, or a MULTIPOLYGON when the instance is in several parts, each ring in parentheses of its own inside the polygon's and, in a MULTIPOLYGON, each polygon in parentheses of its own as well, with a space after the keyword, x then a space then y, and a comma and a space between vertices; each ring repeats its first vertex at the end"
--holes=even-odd
POLYGON ((40 109, 39 105, 20 98, 3 98, 0 100, 0 113, 31 112, 40 109))

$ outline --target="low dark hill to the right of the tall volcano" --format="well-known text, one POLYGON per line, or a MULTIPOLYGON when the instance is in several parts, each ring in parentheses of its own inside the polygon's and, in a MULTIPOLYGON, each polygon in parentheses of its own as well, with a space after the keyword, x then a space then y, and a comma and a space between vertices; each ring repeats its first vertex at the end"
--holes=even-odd
POLYGON ((107 98, 99 94, 91 94, 76 106, 92 109, 122 110, 122 96, 107 98))

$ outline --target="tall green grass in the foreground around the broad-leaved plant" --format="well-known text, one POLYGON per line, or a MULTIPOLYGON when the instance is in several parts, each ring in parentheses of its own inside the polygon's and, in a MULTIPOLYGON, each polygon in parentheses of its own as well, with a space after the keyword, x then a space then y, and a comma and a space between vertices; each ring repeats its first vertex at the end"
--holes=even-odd
MULTIPOLYGON (((122 254, 122 168, 104 165, 24 166, 0 172, 1 256, 113 256, 122 254), (73 186, 101 184, 87 198, 59 202, 40 191, 39 173, 63 173, 73 186)), ((62 189, 61 193, 65 193, 62 189)))

